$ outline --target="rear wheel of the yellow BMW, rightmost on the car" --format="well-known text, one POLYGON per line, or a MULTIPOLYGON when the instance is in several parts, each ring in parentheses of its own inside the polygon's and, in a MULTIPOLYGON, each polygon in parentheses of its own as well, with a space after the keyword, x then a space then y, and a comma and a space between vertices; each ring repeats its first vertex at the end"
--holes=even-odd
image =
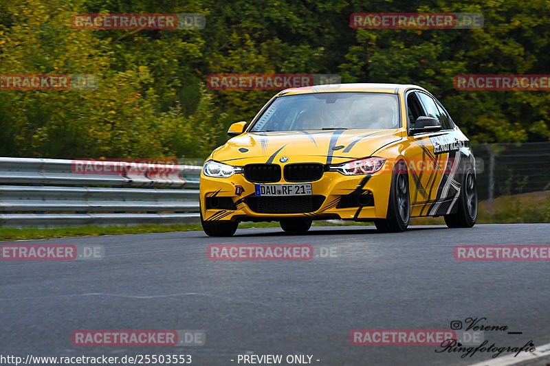
POLYGON ((469 166, 460 188, 456 214, 444 215, 448 227, 472 227, 477 219, 477 183, 474 169, 469 166))

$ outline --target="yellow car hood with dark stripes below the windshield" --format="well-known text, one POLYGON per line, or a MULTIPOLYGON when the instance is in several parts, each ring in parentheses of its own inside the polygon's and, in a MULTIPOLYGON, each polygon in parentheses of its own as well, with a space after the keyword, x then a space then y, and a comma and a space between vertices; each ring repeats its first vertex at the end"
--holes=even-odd
POLYGON ((214 150, 212 159, 233 165, 272 163, 284 157, 289 163, 342 163, 369 157, 399 139, 397 129, 243 133, 214 150))

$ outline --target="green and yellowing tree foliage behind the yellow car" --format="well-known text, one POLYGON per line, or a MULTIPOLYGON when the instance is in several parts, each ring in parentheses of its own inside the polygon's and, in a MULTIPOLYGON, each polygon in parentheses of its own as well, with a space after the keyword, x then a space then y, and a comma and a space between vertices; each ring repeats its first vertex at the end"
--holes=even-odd
POLYGON ((210 73, 419 84, 474 142, 550 139, 548 91, 456 91, 463 73, 549 73, 550 1, 0 0, 0 73, 87 73, 96 90, 0 90, 0 155, 206 157, 274 91, 210 73), (203 30, 76 30, 78 13, 206 15, 203 30), (353 12, 481 12, 479 30, 354 30, 353 12))

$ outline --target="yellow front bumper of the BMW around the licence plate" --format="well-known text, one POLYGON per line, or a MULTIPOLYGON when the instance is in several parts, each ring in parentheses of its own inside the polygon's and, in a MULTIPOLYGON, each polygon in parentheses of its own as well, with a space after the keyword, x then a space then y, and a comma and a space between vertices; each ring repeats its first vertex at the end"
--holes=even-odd
MULTIPOLYGON (((386 163, 391 162, 386 161, 386 163)), ((292 210, 294 213, 259 212, 259 206, 252 204, 252 202, 257 202, 256 198, 251 199, 255 196, 255 183, 247 181, 243 174, 233 174, 229 178, 212 178, 201 172, 201 214, 203 220, 206 221, 270 221, 285 218, 313 220, 340 218, 361 221, 386 218, 392 176, 387 174, 387 171, 386 167, 375 174, 357 176, 344 176, 339 172, 324 172, 318 181, 305 182, 311 183, 313 195, 316 197, 314 198, 314 210, 294 212, 296 209, 300 210, 294 207, 296 208, 292 210), (239 185, 243 187, 243 192, 236 194, 236 187, 239 185), (357 196, 363 197, 358 201, 357 196), (207 206, 206 198, 218 199, 214 201, 209 199, 207 206), (319 203, 319 201, 322 202, 319 203), (219 207, 212 207, 212 202, 218 203, 219 207), (360 204, 355 205, 357 202, 360 204)), ((273 184, 283 183, 292 184, 293 182, 282 179, 273 184)), ((289 200, 287 204, 294 205, 292 197, 280 197, 275 201, 280 203, 284 199, 289 200)), ((270 204, 272 202, 274 201, 270 201, 270 204)), ((263 210, 265 211, 265 209, 263 210)))

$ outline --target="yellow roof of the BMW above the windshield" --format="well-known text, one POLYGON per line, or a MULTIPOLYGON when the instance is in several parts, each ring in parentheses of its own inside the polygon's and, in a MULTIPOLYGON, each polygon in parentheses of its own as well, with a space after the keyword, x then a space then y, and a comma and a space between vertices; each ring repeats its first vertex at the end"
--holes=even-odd
POLYGON ((382 83, 355 83, 355 84, 325 84, 314 85, 313 87, 289 88, 277 94, 292 95, 292 94, 309 94, 309 93, 330 93, 337 91, 367 91, 378 93, 393 93, 406 89, 420 89, 426 91, 422 87, 413 84, 382 84, 382 83))

